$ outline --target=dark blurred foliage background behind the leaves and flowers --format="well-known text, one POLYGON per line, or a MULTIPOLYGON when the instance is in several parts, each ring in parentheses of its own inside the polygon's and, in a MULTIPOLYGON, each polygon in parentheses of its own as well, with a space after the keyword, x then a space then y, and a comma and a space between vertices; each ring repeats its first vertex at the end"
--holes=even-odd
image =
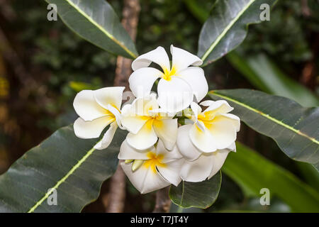
MULTIPOLYGON (((122 2, 109 1, 119 16, 122 2)), ((162 45, 196 53, 198 34, 213 1, 140 0, 137 48, 162 45)), ((0 173, 61 126, 73 123, 75 94, 112 86, 116 57, 87 43, 58 21, 47 21, 42 0, 0 0, 0 173)), ((240 48, 205 68, 210 89, 252 88, 318 106, 319 3, 279 0, 271 21, 250 26, 240 48), (257 57, 256 57, 257 56, 257 57)), ((290 160, 270 138, 242 123, 238 140, 289 170, 317 192, 318 172, 290 160)), ((258 165, 258 163, 256 163, 258 165)), ((265 185, 264 187, 267 187, 265 185)), ((108 184, 84 211, 103 211, 108 184)), ((128 182, 125 211, 152 211, 155 194, 140 195, 128 182)), ((181 211, 172 206, 172 211, 181 211)), ((184 209, 203 212, 200 209, 184 209)), ((205 212, 291 211, 274 196, 271 206, 223 174, 220 196, 205 212)))

